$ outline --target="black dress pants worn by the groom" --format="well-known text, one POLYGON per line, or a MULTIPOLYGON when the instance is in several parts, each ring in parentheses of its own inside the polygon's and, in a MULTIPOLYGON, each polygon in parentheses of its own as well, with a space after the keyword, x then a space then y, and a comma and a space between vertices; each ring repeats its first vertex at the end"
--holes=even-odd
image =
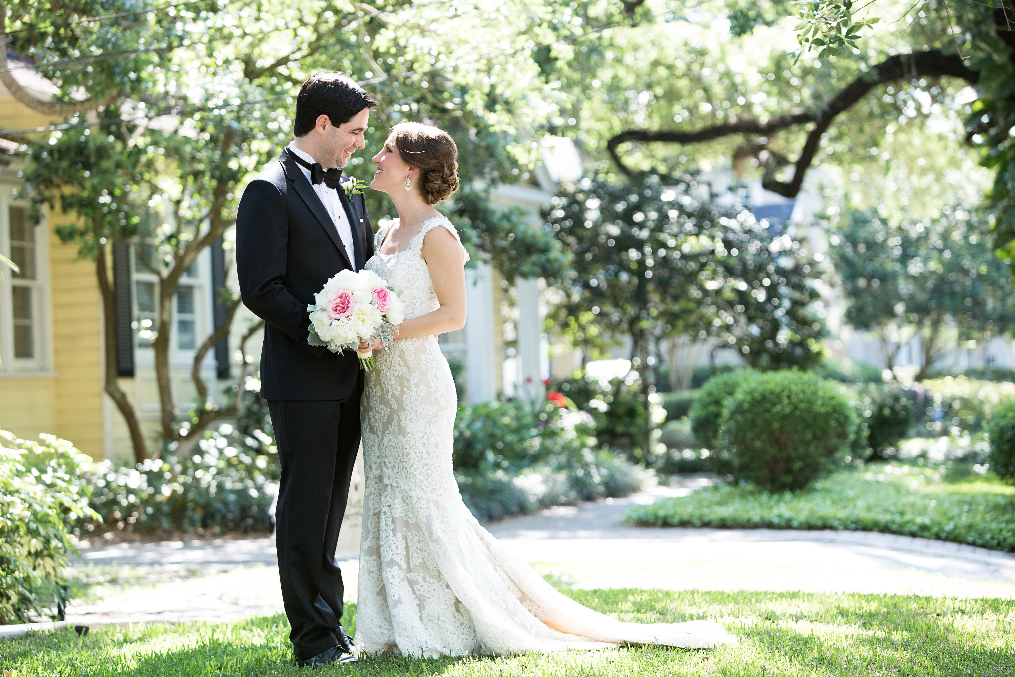
POLYGON ((349 481, 359 449, 359 396, 335 401, 268 401, 282 466, 275 541, 282 601, 296 658, 338 640, 342 572, 335 561, 349 481))

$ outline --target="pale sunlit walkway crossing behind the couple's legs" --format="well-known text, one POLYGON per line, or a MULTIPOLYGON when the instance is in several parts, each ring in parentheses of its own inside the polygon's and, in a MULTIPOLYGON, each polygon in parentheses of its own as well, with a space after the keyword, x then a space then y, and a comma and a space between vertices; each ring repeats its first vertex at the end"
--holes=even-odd
MULTIPOLYGON (((554 507, 487 528, 541 574, 579 588, 1015 598, 1015 556, 984 548, 866 532, 620 525, 629 506, 686 495, 703 483, 554 507)), ((141 585, 99 586, 92 599, 68 609, 73 622, 222 620, 282 610, 269 539, 97 545, 81 554, 74 567, 82 576, 141 585)), ((354 601, 357 562, 346 560, 342 570, 354 601)))

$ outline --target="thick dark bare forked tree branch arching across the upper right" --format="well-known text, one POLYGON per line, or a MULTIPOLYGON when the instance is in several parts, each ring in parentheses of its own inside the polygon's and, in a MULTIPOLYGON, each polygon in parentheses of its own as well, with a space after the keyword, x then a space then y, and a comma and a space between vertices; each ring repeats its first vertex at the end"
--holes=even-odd
MULTIPOLYGON (((832 121, 838 114, 849 110, 857 101, 867 95, 874 87, 893 82, 895 80, 910 80, 917 77, 941 77, 950 76, 965 80, 969 84, 975 84, 979 79, 977 71, 966 68, 962 59, 956 55, 944 54, 939 50, 929 52, 913 52, 911 54, 901 54, 885 59, 880 64, 872 68, 869 72, 851 82, 844 89, 832 96, 824 107, 817 113, 789 113, 770 119, 767 123, 761 124, 753 118, 741 118, 730 121, 724 125, 706 127, 693 132, 666 131, 666 130, 631 130, 621 132, 611 138, 606 149, 616 162, 617 167, 626 176, 633 176, 630 167, 626 166, 620 159, 616 148, 626 141, 662 141, 670 143, 695 143, 717 139, 730 134, 759 134, 767 135, 781 131, 793 125, 812 122, 814 126, 807 135, 807 141, 800 157, 796 162, 796 171, 793 179, 789 182, 777 181, 774 178, 765 177, 761 186, 766 190, 779 193, 788 198, 796 197, 800 192, 800 187, 804 182, 804 175, 814 161, 821 143, 821 137, 827 131, 832 121)), ((767 173, 766 173, 767 174, 767 173)))

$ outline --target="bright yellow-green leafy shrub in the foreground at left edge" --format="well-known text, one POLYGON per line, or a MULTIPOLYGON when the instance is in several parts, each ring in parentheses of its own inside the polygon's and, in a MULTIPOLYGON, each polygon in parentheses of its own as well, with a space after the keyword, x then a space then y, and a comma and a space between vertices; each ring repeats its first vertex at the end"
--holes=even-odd
POLYGON ((0 430, 0 623, 48 615, 52 600, 40 594, 60 590, 68 554, 77 552, 72 530, 92 517, 79 480, 89 464, 65 439, 0 430))

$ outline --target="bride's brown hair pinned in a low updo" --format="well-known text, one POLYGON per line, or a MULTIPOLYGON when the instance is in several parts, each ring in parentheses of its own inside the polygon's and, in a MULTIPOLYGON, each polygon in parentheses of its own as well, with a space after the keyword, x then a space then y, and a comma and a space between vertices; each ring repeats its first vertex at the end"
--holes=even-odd
POLYGON ((448 132, 418 122, 400 122, 392 128, 395 147, 406 164, 419 168, 419 192, 429 204, 458 190, 458 146, 448 132))

